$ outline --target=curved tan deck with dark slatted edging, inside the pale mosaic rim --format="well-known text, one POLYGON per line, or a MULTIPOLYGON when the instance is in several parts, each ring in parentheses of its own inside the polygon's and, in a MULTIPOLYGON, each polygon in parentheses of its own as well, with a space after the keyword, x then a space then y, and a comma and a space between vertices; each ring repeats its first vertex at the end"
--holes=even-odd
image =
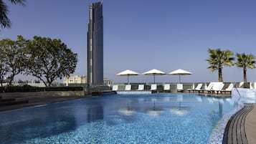
POLYGON ((227 123, 224 132, 224 144, 256 143, 256 105, 245 104, 227 123))

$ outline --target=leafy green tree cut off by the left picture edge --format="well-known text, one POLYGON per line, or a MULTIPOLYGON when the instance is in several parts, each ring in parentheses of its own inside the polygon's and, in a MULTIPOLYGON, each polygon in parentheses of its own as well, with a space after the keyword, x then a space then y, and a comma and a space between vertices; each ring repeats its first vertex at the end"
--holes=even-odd
POLYGON ((24 59, 26 54, 24 47, 27 47, 27 40, 18 36, 16 41, 2 39, 1 47, 1 82, 4 77, 9 78, 8 86, 11 86, 14 77, 24 70, 24 59))

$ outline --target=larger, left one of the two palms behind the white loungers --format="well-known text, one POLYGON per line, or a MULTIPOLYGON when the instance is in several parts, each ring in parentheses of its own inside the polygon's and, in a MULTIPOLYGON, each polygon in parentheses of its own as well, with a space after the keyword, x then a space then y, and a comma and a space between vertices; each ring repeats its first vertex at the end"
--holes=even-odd
POLYGON ((214 72, 215 70, 218 70, 219 72, 219 82, 223 82, 222 79, 222 68, 224 66, 232 66, 234 57, 233 52, 229 50, 221 50, 221 49, 208 49, 209 52, 209 58, 207 59, 207 62, 210 64, 207 69, 211 69, 211 72, 214 72))

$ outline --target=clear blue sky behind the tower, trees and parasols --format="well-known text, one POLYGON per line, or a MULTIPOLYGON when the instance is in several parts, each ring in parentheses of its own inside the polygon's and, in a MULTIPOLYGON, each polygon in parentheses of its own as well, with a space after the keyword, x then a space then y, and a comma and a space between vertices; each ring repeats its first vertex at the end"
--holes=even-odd
MULTIPOLYGON (((79 62, 74 75, 87 75, 87 23, 93 0, 29 1, 11 5, 11 29, 2 29, 0 39, 60 38, 79 62)), ((171 72, 185 69, 193 75, 181 82, 217 81, 206 59, 207 49, 229 49, 256 55, 256 1, 237 0, 105 0, 104 77, 131 69, 171 72)), ((224 82, 243 80, 242 68, 224 67, 224 82)), ((256 69, 247 70, 247 80, 256 81, 256 69)), ((22 76, 19 76, 22 77, 22 76)), ((18 79, 19 77, 16 77, 18 79)), ((22 77, 24 79, 24 77, 22 77)), ((153 82, 151 76, 130 77, 131 82, 153 82)), ((156 82, 178 82, 178 76, 156 76, 156 82)))

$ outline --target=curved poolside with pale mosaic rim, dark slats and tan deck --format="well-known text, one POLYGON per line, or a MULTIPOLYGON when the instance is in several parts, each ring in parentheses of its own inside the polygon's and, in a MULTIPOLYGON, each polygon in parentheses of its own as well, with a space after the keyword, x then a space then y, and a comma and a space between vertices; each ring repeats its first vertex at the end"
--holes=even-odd
POLYGON ((219 120, 212 130, 207 143, 254 143, 256 128, 254 123, 255 111, 255 103, 240 104, 237 109, 227 113, 219 120))

